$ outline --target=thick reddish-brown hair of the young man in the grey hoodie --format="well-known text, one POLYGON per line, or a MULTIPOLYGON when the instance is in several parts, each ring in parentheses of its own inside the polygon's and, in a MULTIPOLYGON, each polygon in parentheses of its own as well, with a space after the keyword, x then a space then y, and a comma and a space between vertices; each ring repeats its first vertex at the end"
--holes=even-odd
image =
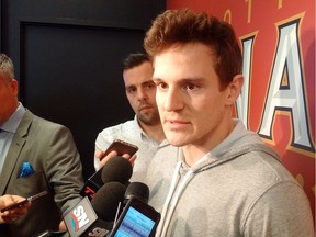
POLYGON ((189 9, 165 11, 147 31, 144 48, 155 60, 155 55, 190 43, 201 43, 214 53, 214 68, 222 88, 241 74, 241 50, 233 27, 205 12, 194 13, 189 9))

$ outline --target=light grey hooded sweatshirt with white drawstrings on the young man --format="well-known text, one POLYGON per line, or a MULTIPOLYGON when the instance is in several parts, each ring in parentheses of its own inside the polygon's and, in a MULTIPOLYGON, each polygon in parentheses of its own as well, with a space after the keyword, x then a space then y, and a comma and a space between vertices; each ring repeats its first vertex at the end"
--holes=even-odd
POLYGON ((149 204, 161 213, 156 236, 313 237, 311 206, 278 154, 235 120, 230 135, 193 167, 181 148, 148 167, 149 204))

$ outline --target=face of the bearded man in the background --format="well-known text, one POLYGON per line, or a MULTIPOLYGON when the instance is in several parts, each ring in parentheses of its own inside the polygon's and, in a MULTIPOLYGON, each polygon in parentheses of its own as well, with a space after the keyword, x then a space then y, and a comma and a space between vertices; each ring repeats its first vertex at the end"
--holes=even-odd
POLYGON ((144 63, 123 71, 126 97, 140 123, 160 123, 156 104, 156 84, 153 82, 153 65, 144 63))

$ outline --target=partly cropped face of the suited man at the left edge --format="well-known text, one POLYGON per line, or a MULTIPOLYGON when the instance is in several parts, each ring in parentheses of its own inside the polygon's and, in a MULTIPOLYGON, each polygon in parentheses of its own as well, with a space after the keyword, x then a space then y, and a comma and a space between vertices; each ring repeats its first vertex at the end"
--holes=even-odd
POLYGON ((4 123, 18 106, 18 81, 0 71, 0 124, 4 123))

